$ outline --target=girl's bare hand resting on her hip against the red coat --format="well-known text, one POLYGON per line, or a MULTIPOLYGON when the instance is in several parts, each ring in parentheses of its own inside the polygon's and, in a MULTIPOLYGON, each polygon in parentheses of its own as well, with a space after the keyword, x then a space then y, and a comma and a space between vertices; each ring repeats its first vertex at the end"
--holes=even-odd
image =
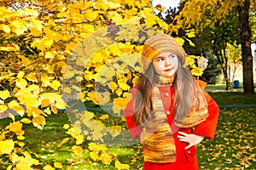
POLYGON ((177 135, 177 138, 179 139, 179 141, 189 143, 189 145, 187 145, 185 147, 185 150, 189 149, 190 147, 194 146, 195 144, 201 143, 201 141, 204 139, 203 136, 196 135, 196 134, 193 134, 193 133, 190 133, 190 134, 183 133, 183 132, 178 132, 178 133, 182 134, 182 136, 177 135))

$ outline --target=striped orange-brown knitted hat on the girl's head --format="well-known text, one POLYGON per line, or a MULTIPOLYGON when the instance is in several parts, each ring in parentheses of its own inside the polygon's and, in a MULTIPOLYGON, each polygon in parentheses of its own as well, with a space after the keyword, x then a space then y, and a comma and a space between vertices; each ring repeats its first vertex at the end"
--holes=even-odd
POLYGON ((143 70, 147 71, 154 57, 161 53, 176 54, 182 65, 185 63, 186 52, 176 39, 166 34, 157 34, 148 38, 143 46, 143 70))

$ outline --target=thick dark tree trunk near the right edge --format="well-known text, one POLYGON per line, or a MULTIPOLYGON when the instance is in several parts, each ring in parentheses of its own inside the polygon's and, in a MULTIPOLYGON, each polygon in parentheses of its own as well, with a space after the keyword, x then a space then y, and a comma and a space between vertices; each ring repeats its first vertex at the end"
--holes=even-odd
POLYGON ((239 6, 239 26, 241 38, 242 76, 243 92, 254 93, 253 87, 253 55, 251 49, 251 29, 249 26, 249 0, 244 0, 244 4, 239 6))

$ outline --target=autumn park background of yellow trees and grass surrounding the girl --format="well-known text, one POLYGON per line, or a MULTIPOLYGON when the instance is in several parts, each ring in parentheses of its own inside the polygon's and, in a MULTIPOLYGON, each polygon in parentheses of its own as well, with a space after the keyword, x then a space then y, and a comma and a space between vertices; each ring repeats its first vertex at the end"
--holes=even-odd
POLYGON ((0 169, 142 169, 122 110, 158 32, 220 106, 201 169, 255 168, 255 1, 174 2, 1 1, 0 169))

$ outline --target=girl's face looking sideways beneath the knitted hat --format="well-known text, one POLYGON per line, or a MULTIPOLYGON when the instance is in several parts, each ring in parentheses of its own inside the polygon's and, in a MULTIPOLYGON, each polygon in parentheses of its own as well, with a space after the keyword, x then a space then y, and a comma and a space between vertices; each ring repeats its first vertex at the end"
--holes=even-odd
POLYGON ((172 77, 178 67, 176 54, 162 53, 156 55, 153 59, 154 71, 162 77, 172 77))

